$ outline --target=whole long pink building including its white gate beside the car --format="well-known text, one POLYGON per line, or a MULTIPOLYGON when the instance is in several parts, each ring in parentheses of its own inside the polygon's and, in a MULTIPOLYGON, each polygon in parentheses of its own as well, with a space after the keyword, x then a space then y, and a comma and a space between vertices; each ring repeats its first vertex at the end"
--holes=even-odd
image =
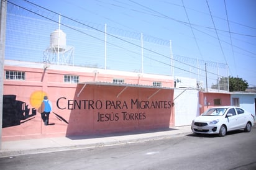
POLYGON ((5 60, 2 140, 190 125, 229 92, 177 89, 171 76, 5 60), (39 107, 52 102, 49 124, 39 107), (176 110, 176 114, 175 114, 176 110))

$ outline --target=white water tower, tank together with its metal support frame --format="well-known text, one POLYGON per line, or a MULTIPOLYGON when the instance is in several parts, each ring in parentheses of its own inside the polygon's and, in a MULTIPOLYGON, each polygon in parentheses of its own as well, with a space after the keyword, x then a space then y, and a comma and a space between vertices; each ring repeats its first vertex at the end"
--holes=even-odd
POLYGON ((74 48, 66 45, 66 34, 54 30, 50 34, 50 46, 43 51, 43 62, 55 65, 74 65, 74 48))

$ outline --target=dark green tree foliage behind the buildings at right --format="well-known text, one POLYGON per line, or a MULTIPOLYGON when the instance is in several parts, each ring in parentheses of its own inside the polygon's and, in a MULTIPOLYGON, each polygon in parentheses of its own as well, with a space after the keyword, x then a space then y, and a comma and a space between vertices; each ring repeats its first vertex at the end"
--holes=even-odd
POLYGON ((248 86, 246 80, 229 76, 229 91, 245 91, 248 86))

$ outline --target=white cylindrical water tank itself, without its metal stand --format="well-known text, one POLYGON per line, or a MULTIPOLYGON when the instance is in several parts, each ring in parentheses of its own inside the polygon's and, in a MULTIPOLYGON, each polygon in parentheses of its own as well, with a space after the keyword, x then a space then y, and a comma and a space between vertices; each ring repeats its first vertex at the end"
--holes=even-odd
POLYGON ((65 51, 66 34, 62 30, 54 30, 50 35, 50 47, 53 51, 65 51), (60 40, 58 37, 60 36, 60 40))

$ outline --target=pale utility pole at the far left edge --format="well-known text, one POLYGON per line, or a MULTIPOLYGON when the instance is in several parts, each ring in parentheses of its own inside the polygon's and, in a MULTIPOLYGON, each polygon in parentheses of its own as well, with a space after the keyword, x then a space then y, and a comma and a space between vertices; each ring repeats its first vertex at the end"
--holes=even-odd
POLYGON ((6 43, 6 11, 7 2, 1 0, 0 6, 0 150, 2 148, 2 105, 3 105, 3 94, 4 94, 4 52, 6 43))

